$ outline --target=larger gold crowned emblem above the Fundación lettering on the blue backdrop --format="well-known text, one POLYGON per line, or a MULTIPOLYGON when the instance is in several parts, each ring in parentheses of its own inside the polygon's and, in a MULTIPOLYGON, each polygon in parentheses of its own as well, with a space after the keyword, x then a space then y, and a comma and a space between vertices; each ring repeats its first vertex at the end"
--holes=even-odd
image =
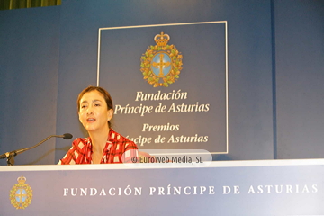
POLYGON ((167 45, 170 36, 161 32, 154 37, 157 45, 149 46, 140 58, 140 71, 148 84, 154 87, 175 83, 183 69, 183 55, 175 45, 167 45))

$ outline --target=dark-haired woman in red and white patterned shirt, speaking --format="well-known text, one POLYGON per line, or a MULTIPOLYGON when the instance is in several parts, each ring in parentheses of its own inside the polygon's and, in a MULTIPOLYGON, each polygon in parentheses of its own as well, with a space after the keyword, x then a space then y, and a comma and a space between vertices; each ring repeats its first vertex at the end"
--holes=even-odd
POLYGON ((85 88, 77 97, 77 111, 89 137, 75 139, 58 164, 113 164, 138 157, 136 144, 111 128, 112 97, 106 90, 85 88))

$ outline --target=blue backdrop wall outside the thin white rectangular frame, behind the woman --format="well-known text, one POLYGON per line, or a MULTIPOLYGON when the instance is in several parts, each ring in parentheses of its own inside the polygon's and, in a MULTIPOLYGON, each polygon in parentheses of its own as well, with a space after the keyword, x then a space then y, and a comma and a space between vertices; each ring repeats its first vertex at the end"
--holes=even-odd
MULTIPOLYGON (((50 134, 85 136, 76 95, 96 85, 99 28, 227 21, 229 154, 214 159, 321 157, 323 12, 323 1, 315 0, 63 0, 1 11, 0 153, 50 134)), ((55 164, 70 143, 51 139, 16 164, 55 164)))

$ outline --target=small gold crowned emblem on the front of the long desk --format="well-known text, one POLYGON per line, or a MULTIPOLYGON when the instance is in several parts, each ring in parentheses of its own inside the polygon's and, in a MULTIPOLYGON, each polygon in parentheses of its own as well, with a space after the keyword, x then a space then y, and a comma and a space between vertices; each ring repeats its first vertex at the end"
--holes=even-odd
POLYGON ((22 175, 17 178, 18 184, 10 191, 10 201, 14 208, 24 209, 31 204, 32 190, 29 184, 25 184, 26 178, 22 175))

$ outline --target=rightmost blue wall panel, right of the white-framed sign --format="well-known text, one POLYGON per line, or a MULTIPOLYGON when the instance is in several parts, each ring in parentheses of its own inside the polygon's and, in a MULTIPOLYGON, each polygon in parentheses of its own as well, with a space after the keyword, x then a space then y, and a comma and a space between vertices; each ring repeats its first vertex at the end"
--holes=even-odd
POLYGON ((275 1, 278 159, 324 153, 324 1, 275 1))

